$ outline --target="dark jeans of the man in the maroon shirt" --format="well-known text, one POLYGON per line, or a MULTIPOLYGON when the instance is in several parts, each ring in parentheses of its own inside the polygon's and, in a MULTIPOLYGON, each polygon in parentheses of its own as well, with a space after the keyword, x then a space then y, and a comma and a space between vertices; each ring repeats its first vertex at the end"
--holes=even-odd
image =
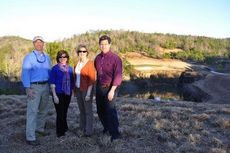
POLYGON ((108 130, 112 137, 120 135, 118 131, 118 116, 115 107, 115 101, 117 91, 115 91, 114 98, 112 101, 108 100, 108 92, 110 87, 101 87, 97 84, 96 86, 96 104, 97 114, 104 127, 104 130, 108 130))

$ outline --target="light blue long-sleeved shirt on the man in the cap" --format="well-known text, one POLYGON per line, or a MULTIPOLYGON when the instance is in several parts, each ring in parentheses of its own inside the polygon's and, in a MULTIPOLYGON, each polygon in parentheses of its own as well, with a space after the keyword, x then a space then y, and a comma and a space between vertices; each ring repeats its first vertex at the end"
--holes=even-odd
POLYGON ((30 87, 31 82, 49 80, 51 61, 48 54, 39 54, 34 50, 27 54, 22 64, 21 81, 25 88, 30 87))

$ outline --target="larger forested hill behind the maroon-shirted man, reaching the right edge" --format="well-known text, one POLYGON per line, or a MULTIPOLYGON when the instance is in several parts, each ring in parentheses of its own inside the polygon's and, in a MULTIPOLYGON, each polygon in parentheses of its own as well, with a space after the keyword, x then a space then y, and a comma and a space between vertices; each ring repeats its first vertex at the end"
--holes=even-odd
POLYGON ((141 52, 156 58, 179 58, 186 60, 192 55, 195 60, 205 60, 202 56, 228 56, 230 38, 215 39, 201 36, 175 34, 141 33, 134 31, 95 31, 74 35, 63 41, 64 46, 72 48, 79 42, 87 42, 94 52, 98 50, 98 37, 108 34, 113 38, 113 49, 121 53, 141 52), (171 50, 171 52, 168 52, 171 50), (179 52, 178 51, 185 51, 179 52), (208 55, 207 55, 208 53, 208 55))

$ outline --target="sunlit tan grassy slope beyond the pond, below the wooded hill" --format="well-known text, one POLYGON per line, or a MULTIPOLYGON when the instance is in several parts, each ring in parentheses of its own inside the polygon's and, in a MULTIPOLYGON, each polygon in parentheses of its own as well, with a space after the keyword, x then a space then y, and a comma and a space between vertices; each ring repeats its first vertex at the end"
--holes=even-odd
MULTIPOLYGON (((157 75, 167 78, 177 78, 181 72, 191 67, 190 64, 180 60, 156 59, 137 52, 129 52, 121 56, 133 66, 133 73, 142 78, 157 75)), ((130 78, 126 77, 125 79, 129 80, 130 78)))

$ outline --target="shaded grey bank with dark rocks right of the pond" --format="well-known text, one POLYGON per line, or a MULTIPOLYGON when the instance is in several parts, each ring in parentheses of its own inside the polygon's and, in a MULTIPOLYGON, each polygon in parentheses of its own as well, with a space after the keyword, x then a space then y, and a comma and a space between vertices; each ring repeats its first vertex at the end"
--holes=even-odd
POLYGON ((230 103, 230 75, 212 71, 183 72, 178 90, 186 101, 230 103))

